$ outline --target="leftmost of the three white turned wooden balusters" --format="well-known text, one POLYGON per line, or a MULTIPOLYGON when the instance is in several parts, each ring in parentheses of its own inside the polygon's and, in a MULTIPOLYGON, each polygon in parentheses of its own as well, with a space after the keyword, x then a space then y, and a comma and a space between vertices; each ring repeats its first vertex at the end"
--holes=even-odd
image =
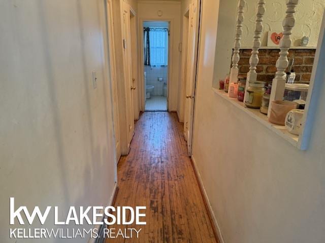
POLYGON ((233 64, 232 68, 230 69, 230 80, 229 83, 237 83, 238 80, 238 62, 239 62, 239 49, 240 49, 240 41, 242 38, 242 26, 244 21, 244 7, 246 1, 239 0, 238 1, 238 13, 237 13, 237 25, 236 25, 236 36, 235 36, 235 43, 234 43, 234 54, 233 54, 233 64))

